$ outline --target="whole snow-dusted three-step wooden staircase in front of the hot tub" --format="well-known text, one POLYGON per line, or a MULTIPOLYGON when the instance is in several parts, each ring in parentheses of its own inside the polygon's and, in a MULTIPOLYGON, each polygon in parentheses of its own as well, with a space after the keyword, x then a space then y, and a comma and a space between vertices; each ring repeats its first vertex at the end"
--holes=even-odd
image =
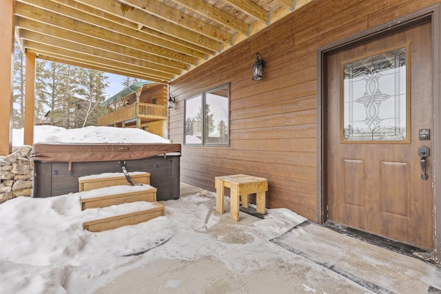
POLYGON ((101 208, 96 218, 83 222, 83 229, 93 232, 107 231, 164 215, 164 206, 156 202, 157 190, 150 186, 150 174, 134 172, 130 173, 130 179, 133 186, 122 173, 79 178, 81 210, 101 208), (121 208, 130 203, 130 208, 121 208), (121 209, 125 213, 117 212, 121 209))

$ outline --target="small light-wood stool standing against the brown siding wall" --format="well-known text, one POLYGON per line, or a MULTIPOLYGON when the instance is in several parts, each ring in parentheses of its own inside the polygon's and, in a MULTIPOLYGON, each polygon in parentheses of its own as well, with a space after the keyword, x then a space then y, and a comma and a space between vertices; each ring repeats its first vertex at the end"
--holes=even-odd
POLYGON ((256 211, 265 214, 265 192, 268 191, 268 180, 243 174, 218 176, 214 178, 216 186, 216 211, 224 213, 225 187, 230 189, 229 213, 232 220, 239 220, 239 196, 243 207, 249 207, 249 194, 256 193, 256 211))

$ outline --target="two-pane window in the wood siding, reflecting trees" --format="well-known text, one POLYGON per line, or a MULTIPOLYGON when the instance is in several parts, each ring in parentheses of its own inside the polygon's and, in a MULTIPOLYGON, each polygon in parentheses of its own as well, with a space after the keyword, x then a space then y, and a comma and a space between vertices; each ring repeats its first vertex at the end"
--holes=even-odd
POLYGON ((228 146, 229 84, 187 98, 184 107, 185 145, 228 146))

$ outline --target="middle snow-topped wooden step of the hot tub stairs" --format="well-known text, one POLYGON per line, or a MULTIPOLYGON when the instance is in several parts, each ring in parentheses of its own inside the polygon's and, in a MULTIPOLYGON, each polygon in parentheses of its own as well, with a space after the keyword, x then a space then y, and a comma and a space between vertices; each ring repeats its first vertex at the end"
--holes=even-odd
POLYGON ((80 196, 81 210, 135 201, 154 202, 156 191, 155 187, 144 184, 119 185, 84 191, 80 196))

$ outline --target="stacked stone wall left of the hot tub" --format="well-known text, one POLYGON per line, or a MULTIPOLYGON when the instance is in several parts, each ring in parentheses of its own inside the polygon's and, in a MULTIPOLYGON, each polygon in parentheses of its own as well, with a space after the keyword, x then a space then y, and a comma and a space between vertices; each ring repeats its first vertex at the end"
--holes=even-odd
POLYGON ((8 156, 0 156, 0 203, 14 197, 32 196, 31 151, 32 146, 23 145, 8 156))

